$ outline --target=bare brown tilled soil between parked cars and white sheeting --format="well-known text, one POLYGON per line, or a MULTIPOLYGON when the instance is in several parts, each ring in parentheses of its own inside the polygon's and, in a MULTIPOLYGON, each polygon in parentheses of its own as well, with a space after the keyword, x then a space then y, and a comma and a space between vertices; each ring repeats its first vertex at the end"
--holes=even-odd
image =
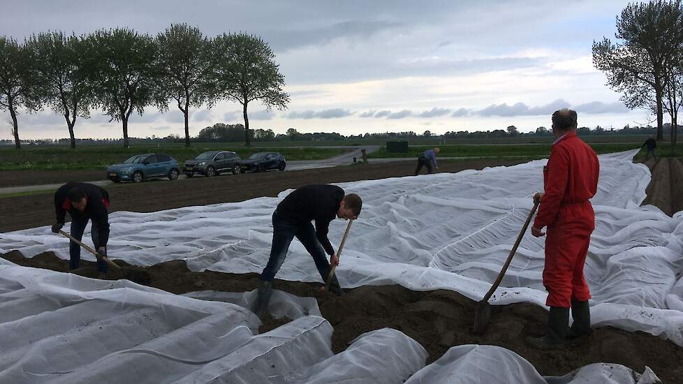
MULTIPOLYGON (((494 165, 513 165, 520 162, 494 159, 440 161, 439 170, 441 172, 458 172, 494 165)), ((110 195, 110 212, 155 212, 193 205, 238 202, 262 196, 274 197, 286 189, 299 188, 307 184, 408 176, 415 172, 415 166, 415 161, 382 164, 359 163, 358 165, 288 172, 244 173, 218 177, 194 177, 175 181, 160 179, 140 184, 122 183, 108 186, 106 189, 110 195)), ((0 171, 0 174, 3 172, 5 171, 0 171)), ((66 177, 73 176, 71 173, 65 175, 66 177)), ((70 180, 80 181, 80 179, 66 178, 63 182, 66 183, 70 180)), ((54 223, 52 194, 0 198, 0 218, 0 232, 52 224, 54 223)))

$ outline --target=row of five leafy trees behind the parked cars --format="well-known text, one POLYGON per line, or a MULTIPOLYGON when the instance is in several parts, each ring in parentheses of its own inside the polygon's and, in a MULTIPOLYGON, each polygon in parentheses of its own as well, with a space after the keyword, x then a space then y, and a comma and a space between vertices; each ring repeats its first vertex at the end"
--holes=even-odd
POLYGON ((87 119, 91 109, 100 109, 110 121, 121 121, 128 147, 133 112, 142 115, 150 105, 164 112, 175 105, 184 115, 189 146, 191 108, 225 99, 242 104, 242 138, 249 145, 249 103, 283 110, 289 102, 274 59, 258 36, 207 38, 187 24, 172 24, 155 37, 125 28, 85 36, 43 32, 23 44, 0 36, 0 108, 10 113, 18 149, 20 108, 47 107, 64 115, 71 147, 77 117, 87 119))

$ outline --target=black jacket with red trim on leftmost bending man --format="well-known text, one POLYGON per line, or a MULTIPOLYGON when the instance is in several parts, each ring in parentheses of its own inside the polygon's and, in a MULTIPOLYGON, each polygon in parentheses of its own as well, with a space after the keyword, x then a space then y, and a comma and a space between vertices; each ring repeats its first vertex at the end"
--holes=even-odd
POLYGON ((54 193, 54 212, 57 214, 57 223, 64 223, 66 212, 71 216, 71 221, 87 221, 88 219, 97 224, 99 242, 96 246, 106 246, 109 240, 109 193, 99 186, 88 183, 68 182, 57 189, 54 193), (71 206, 66 193, 69 189, 80 186, 87 195, 88 204, 85 212, 71 206))

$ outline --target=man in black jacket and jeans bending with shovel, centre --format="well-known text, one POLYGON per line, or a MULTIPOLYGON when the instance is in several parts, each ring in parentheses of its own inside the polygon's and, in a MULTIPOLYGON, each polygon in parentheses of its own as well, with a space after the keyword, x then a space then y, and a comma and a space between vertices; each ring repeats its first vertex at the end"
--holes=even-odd
MULTIPOLYGON (((339 259, 328 239, 330 221, 339 219, 356 219, 360 214, 362 200, 355 193, 344 193, 344 190, 333 185, 309 185, 293 191, 282 200, 273 212, 273 241, 270 258, 260 276, 258 296, 252 308, 258 316, 265 313, 272 281, 287 256, 289 244, 296 237, 313 257, 323 281, 328 278, 330 263, 325 253, 330 255, 330 262, 339 265, 339 259), (315 228, 311 224, 315 221, 315 228)), ((330 284, 330 290, 342 295, 337 276, 330 284)))

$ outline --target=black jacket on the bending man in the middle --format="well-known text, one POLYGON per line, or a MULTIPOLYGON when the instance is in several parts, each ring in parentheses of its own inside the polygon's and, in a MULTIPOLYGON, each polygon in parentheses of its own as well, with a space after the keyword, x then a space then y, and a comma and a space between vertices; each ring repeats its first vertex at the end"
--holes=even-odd
POLYGON ((316 237, 329 255, 335 250, 328 239, 330 221, 337 218, 337 211, 344 199, 344 189, 334 185, 308 185, 293 191, 277 205, 277 214, 291 223, 302 225, 316 222, 316 237))

